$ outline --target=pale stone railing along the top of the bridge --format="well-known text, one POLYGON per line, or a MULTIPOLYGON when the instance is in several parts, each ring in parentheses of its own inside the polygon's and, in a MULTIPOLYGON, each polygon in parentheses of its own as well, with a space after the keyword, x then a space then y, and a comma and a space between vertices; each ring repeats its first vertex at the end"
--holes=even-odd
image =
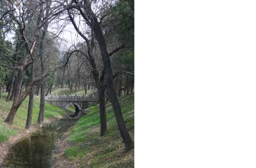
POLYGON ((47 96, 45 100, 49 101, 98 101, 95 96, 47 96))

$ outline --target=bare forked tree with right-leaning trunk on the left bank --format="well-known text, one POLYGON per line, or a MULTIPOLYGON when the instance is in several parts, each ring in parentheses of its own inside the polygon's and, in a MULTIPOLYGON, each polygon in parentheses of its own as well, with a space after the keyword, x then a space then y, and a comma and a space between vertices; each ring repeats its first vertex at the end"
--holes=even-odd
POLYGON ((46 17, 42 17, 42 14, 45 12, 45 8, 43 9, 43 6, 41 5, 41 1, 31 1, 29 2, 30 8, 34 8, 35 14, 37 15, 37 21, 36 26, 33 29, 32 34, 30 35, 31 38, 29 40, 28 35, 26 34, 26 28, 27 28, 27 16, 26 16, 26 8, 24 6, 25 2, 20 1, 20 3, 13 3, 12 1, 6 2, 6 14, 9 14, 10 19, 9 24, 15 23, 17 24, 17 31, 19 32, 20 39, 22 40, 26 54, 20 59, 20 61, 17 63, 15 67, 9 66, 9 65, 2 65, 4 67, 8 67, 12 70, 17 71, 17 76, 15 78, 15 87, 14 87, 14 93, 13 93, 13 104, 12 108, 10 109, 9 115, 5 119, 6 123, 9 123, 9 125, 12 125, 13 119, 16 115, 17 109, 19 108, 20 104, 24 101, 24 99, 27 97, 27 95, 30 94, 31 90, 33 89, 33 85, 35 83, 40 83, 44 80, 45 76, 42 75, 38 76, 37 78, 31 80, 24 92, 21 90, 22 86, 22 80, 24 76, 24 71, 26 68, 33 64, 35 61, 34 57, 34 49, 35 49, 35 43, 38 40, 38 36, 40 35, 41 28, 45 25, 47 22, 46 17))

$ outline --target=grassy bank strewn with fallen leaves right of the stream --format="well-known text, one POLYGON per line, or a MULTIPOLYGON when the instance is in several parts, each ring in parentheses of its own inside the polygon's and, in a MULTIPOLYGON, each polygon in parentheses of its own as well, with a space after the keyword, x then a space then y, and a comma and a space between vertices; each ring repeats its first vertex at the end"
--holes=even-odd
MULTIPOLYGON (((120 105, 127 129, 134 140, 134 95, 121 97, 120 105)), ((111 104, 106 104, 108 135, 104 137, 99 136, 98 106, 90 107, 89 111, 79 119, 66 139, 69 147, 65 149, 65 157, 84 168, 134 167, 134 150, 125 151, 111 104)))

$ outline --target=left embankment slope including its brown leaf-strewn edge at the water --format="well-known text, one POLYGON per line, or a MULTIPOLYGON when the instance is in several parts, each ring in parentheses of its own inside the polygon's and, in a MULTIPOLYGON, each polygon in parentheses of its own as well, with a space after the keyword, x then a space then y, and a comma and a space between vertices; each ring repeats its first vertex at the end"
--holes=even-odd
MULTIPOLYGON (((15 116, 15 120, 13 121, 13 125, 10 127, 3 122, 6 116, 8 116, 10 108, 12 107, 12 101, 5 101, 6 96, 6 93, 3 93, 2 98, 0 99, 0 163, 2 162, 2 159, 8 151, 10 145, 15 143, 16 140, 28 136, 31 132, 37 129, 36 123, 40 108, 40 97, 35 96, 32 126, 30 130, 26 131, 25 125, 27 119, 27 108, 29 105, 29 97, 27 97, 22 105, 20 105, 20 108, 15 116)), ((47 123, 51 120, 62 118, 65 113, 66 112, 63 109, 45 102, 44 122, 47 123)))

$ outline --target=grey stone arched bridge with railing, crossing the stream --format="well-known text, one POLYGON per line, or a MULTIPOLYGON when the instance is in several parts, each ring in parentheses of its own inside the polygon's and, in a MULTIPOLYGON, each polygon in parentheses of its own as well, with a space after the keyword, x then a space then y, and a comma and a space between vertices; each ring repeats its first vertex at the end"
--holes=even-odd
POLYGON ((67 108, 69 105, 76 105, 80 111, 88 108, 89 105, 98 101, 98 97, 86 97, 86 96, 47 96, 46 101, 57 105, 58 107, 67 108))

